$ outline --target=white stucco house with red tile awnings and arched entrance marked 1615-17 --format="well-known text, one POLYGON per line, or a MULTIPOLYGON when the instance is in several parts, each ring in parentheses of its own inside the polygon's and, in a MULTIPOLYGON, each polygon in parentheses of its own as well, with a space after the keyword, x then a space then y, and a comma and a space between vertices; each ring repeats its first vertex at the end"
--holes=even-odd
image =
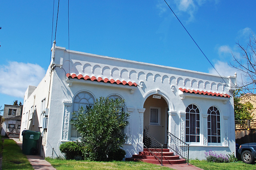
MULTIPOLYGON (((33 70, 31 70, 33 71, 33 70)), ((80 106, 101 96, 125 99, 130 124, 126 157, 143 150, 143 129, 168 145, 167 131, 190 144, 189 158, 235 152, 232 89, 236 77, 52 47, 52 62, 24 98, 21 130, 42 132, 40 154, 62 156, 61 143, 80 135, 69 123, 80 106), (226 83, 225 83, 225 82, 226 83)), ((22 140, 22 136, 20 135, 22 140)))

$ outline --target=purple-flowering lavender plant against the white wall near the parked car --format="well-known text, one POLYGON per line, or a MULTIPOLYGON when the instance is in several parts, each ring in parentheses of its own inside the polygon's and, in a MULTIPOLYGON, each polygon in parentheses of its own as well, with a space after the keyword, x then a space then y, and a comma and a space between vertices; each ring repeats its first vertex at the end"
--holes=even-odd
POLYGON ((228 163, 229 157, 225 154, 217 154, 215 151, 210 150, 209 152, 204 152, 207 162, 216 162, 216 163, 228 163))

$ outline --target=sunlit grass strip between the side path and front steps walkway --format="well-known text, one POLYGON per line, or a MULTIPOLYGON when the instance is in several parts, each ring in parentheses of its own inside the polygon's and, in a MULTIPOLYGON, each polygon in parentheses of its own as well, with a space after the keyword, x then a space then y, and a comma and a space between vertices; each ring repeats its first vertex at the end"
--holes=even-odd
POLYGON ((45 158, 57 170, 172 170, 168 167, 163 167, 145 162, 97 162, 97 161, 77 161, 77 160, 63 160, 45 158))

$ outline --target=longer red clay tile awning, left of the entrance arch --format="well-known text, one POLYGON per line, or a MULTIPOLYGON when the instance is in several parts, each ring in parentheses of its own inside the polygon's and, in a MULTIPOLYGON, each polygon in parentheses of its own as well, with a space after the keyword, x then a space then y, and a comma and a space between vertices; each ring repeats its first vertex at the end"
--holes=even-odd
POLYGON ((105 83, 115 83, 115 84, 123 84, 123 85, 129 85, 129 86, 138 86, 138 84, 136 83, 132 83, 131 81, 126 82, 126 81, 120 81, 120 80, 113 80, 110 79, 108 80, 107 78, 102 79, 101 77, 98 77, 98 79, 95 76, 89 77, 88 75, 83 76, 82 74, 76 75, 76 74, 66 74, 67 77, 72 77, 72 78, 77 78, 77 79, 84 79, 84 80, 91 80, 91 81, 101 81, 101 82, 105 82, 105 83))

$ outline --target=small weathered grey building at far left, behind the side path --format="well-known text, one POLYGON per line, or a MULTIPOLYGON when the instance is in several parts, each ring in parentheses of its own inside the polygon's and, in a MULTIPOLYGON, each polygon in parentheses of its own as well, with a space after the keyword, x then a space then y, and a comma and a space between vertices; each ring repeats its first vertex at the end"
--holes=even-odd
POLYGON ((4 104, 4 122, 1 135, 19 137, 22 106, 4 104))

